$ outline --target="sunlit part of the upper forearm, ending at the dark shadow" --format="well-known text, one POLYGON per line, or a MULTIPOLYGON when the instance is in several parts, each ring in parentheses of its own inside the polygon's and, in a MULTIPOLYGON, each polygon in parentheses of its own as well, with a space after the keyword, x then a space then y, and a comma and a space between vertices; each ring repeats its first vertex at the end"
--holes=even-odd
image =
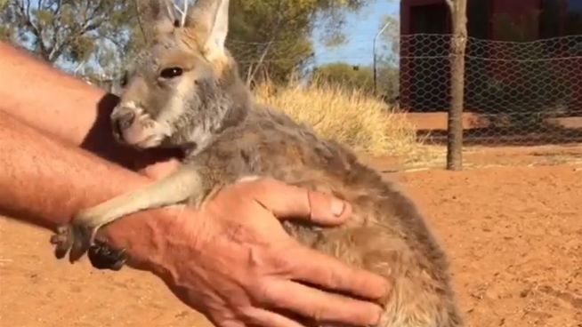
POLYGON ((115 106, 115 97, 8 44, 0 43, 0 58, 2 109, 61 140, 80 145, 97 121, 100 102, 103 111, 115 106))

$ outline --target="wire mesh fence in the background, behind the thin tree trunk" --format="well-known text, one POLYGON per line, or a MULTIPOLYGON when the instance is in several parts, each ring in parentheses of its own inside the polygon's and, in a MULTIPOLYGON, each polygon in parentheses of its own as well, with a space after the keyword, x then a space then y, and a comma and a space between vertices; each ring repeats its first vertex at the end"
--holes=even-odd
MULTIPOLYGON (((417 153, 400 158, 407 166, 445 165, 451 37, 403 35, 384 48, 389 53, 378 53, 378 58, 389 60, 379 60, 376 95, 385 101, 387 111, 394 114, 396 110, 396 114, 408 117, 419 144, 432 147, 428 156, 432 160, 417 153)), ((278 41, 230 42, 243 78, 260 70, 266 72, 263 76, 269 76, 270 69, 280 69, 281 62, 301 67, 303 73, 307 72, 305 79, 320 67, 311 52, 299 48, 281 52, 280 46, 271 44, 280 45, 278 41)), ((368 57, 372 58, 372 53, 368 57)), ((340 54, 335 60, 350 64, 353 58, 340 54)), ((368 71, 370 81, 361 84, 369 92, 373 75, 371 69, 368 71)), ((115 79, 93 78, 92 83, 109 91, 118 90, 115 79)), ((469 37, 464 102, 465 153, 475 148, 558 146, 569 147, 582 161, 582 36, 532 42, 469 37)))

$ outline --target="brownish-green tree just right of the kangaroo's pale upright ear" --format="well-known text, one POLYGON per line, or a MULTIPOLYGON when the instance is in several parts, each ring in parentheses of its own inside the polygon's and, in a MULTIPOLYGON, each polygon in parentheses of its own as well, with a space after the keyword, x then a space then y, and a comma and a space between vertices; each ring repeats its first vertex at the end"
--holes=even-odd
POLYGON ((247 79, 285 82, 310 63, 311 32, 321 24, 327 44, 344 41, 344 13, 363 0, 231 0, 227 45, 247 79))

